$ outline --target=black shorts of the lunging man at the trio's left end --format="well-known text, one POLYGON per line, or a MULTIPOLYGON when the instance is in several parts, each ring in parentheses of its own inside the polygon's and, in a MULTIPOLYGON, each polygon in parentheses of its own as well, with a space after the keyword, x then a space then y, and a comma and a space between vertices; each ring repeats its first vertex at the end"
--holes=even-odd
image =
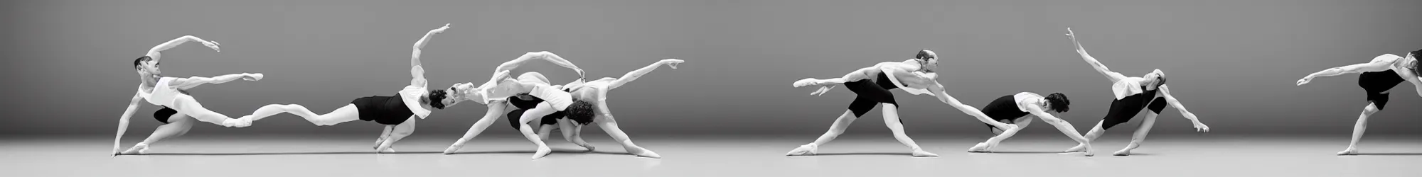
POLYGON ((850 92, 857 95, 855 96, 855 102, 849 103, 849 110, 855 112, 855 118, 865 116, 865 113, 873 110, 875 106, 879 106, 879 103, 899 105, 899 102, 893 99, 893 92, 889 92, 890 89, 897 89, 899 86, 893 85, 893 81, 889 81, 889 75, 884 75, 883 72, 879 74, 877 81, 860 79, 845 82, 845 88, 849 88, 850 92))

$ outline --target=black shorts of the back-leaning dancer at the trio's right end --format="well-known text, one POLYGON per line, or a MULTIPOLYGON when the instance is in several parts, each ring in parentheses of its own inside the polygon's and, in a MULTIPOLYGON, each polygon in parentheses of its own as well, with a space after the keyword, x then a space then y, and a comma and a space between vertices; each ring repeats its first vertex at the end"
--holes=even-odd
POLYGON ((1106 112, 1106 118, 1101 119, 1101 129, 1111 129, 1112 126, 1130 122, 1140 113, 1140 109, 1149 108, 1150 112, 1160 113, 1165 110, 1165 98, 1156 98, 1158 91, 1145 91, 1142 93, 1130 95, 1126 98, 1111 101, 1111 110, 1106 112))

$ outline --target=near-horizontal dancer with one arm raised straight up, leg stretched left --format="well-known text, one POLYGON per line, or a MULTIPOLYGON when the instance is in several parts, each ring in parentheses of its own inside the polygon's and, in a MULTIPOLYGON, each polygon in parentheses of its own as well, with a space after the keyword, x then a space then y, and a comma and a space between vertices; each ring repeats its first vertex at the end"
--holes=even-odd
POLYGON ((391 149, 391 146, 395 144, 395 142, 400 142, 400 139, 404 139, 415 132, 415 122, 418 119, 411 118, 418 116, 419 119, 425 119, 429 116, 429 108, 444 109, 458 103, 456 99, 449 98, 448 92, 444 89, 427 91, 429 81, 425 79, 425 69, 419 62, 421 48, 425 48, 425 44, 429 42, 429 37, 441 34, 445 30, 449 30, 449 24, 429 30, 429 33, 425 33, 419 41, 415 41, 414 52, 410 55, 410 75, 414 76, 414 79, 410 79, 410 85, 400 89, 398 95, 358 98, 326 115, 317 115, 310 109, 306 109, 306 106, 296 103, 266 105, 259 108, 253 116, 239 119, 259 120, 266 116, 289 112, 292 115, 301 116, 317 126, 330 126, 351 120, 374 120, 375 123, 385 125, 380 137, 375 139, 375 152, 394 153, 395 150, 391 149))

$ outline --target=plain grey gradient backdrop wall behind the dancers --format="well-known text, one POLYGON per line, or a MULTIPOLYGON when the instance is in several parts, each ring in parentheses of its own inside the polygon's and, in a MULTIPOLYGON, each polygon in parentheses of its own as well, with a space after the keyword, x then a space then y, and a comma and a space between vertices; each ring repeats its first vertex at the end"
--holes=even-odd
MULTIPOLYGON (((590 76, 621 74, 663 58, 687 59, 613 91, 623 129, 643 133, 822 133, 853 95, 809 96, 801 78, 839 76, 920 48, 943 58, 939 82, 983 106, 1015 92, 1064 92, 1066 119, 1088 129, 1105 115, 1109 82, 1072 52, 1072 27, 1102 62, 1126 75, 1159 68, 1185 105, 1219 133, 1345 136, 1362 106, 1355 75, 1294 81, 1318 69, 1422 48, 1418 0, 11 0, 0 52, 9 78, 0 132, 112 133, 138 85, 129 62, 166 40, 169 76, 263 72, 259 82, 192 92, 212 110, 240 116, 266 103, 328 112, 351 99, 394 95, 408 84, 410 45, 425 31, 454 28, 427 47, 431 86, 482 82, 526 51, 552 51, 590 76)), ((573 72, 535 64, 557 82, 573 72)), ((1413 86, 1394 89, 1371 133, 1416 133, 1413 86)), ((929 96, 896 92, 913 135, 977 133, 973 118, 929 96)), ((144 103, 129 132, 158 123, 144 103)), ((438 110, 421 133, 464 132, 476 103, 438 110)), ((876 110, 850 132, 887 132, 876 110)), ((1135 122, 1130 129, 1133 129, 1135 122)), ((202 123, 205 133, 374 133, 375 123, 313 126, 273 116, 246 129, 202 123)), ((1034 127, 1032 133, 1055 133, 1034 127)), ((1156 133, 1189 133, 1177 110, 1156 133)), ((488 133, 513 133, 501 120, 488 133)))

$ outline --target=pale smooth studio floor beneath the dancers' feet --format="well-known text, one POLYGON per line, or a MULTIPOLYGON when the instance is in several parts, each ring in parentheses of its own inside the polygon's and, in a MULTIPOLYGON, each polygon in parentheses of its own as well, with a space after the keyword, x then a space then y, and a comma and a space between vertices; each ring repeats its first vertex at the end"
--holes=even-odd
MULTIPOLYGON (((789 136, 638 136, 637 144, 664 159, 624 154, 604 136, 589 137, 596 153, 550 140, 555 153, 529 160, 533 146, 516 135, 488 135, 459 154, 441 154, 456 135, 415 135, 398 154, 374 154, 365 136, 215 136, 189 135, 155 144, 148 156, 108 156, 101 136, 4 137, 4 176, 956 176, 956 177, 1202 177, 1320 176, 1416 177, 1422 174, 1419 136, 1368 136, 1364 156, 1334 156, 1347 135, 1317 136, 1152 136, 1135 156, 1112 152, 1129 137, 1108 135, 1096 157, 1058 154, 1075 143, 1061 135, 1025 135, 1000 153, 964 153, 980 137, 914 136, 941 157, 909 157, 887 133, 846 135, 820 146, 822 156, 784 153, 816 135, 789 136)), ((124 149, 141 137, 125 140, 124 149)))

